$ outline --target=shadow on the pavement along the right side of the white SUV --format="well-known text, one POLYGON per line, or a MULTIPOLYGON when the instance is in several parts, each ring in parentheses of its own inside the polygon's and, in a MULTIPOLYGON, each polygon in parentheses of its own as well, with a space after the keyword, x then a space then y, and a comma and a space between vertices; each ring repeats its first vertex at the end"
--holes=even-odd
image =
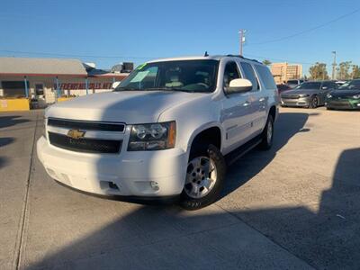
POLYGON ((268 151, 254 149, 229 166, 221 198, 237 190, 238 187, 257 175, 276 157, 276 152, 283 148, 295 134, 310 131, 309 128, 304 129, 304 126, 309 117, 317 115, 318 113, 303 112, 279 113, 275 122, 273 148, 268 151))

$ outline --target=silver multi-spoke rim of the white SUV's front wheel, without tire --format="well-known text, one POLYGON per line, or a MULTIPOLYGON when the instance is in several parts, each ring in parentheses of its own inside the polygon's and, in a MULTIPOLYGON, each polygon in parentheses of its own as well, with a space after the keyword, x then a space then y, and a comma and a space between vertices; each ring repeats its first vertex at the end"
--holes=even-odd
POLYGON ((217 170, 209 157, 195 157, 187 165, 184 192, 199 199, 211 192, 217 180, 217 170))

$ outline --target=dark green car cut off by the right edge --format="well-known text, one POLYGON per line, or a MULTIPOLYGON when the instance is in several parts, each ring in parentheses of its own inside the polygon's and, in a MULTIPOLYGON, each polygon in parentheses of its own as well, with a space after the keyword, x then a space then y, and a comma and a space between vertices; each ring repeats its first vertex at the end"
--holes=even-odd
POLYGON ((325 105, 328 110, 360 110, 360 79, 349 81, 327 94, 325 105))

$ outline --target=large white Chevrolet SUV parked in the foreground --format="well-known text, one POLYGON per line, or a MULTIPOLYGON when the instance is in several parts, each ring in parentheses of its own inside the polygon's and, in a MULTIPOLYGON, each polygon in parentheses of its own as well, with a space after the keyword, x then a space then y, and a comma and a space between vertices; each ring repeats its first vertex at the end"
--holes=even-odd
POLYGON ((237 56, 140 65, 114 91, 45 112, 38 157, 48 174, 88 193, 214 202, 225 157, 270 148, 278 95, 266 66, 237 56))

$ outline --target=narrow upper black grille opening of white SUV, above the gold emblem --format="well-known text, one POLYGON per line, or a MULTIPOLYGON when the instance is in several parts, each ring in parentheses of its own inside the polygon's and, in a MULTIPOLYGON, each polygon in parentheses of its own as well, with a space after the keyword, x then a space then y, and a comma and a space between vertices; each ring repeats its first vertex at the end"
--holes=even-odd
POLYGON ((71 130, 101 130, 101 131, 120 131, 125 130, 125 124, 106 121, 76 121, 58 118, 49 118, 48 125, 58 128, 71 130))

